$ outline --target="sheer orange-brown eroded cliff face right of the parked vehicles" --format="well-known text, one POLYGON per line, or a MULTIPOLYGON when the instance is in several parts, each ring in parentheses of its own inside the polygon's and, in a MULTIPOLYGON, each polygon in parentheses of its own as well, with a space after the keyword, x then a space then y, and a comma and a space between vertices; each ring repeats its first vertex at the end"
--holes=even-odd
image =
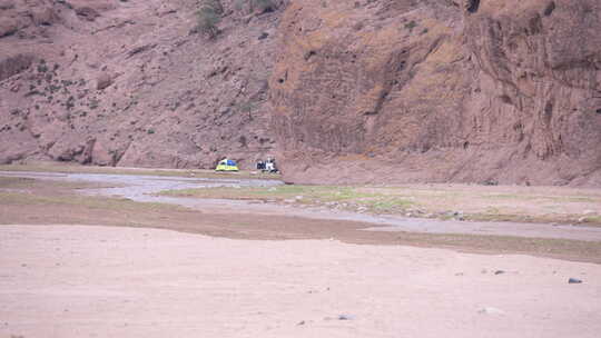
POLYGON ((601 185, 600 6, 290 4, 270 81, 286 180, 601 185))

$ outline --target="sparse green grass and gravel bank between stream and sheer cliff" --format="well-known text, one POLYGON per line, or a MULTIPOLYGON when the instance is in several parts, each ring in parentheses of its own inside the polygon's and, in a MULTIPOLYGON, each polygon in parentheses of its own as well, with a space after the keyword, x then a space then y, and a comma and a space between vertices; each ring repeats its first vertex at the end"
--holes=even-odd
MULTIPOLYGON (((370 186, 280 186, 272 188, 209 188, 165 191, 160 195, 211 199, 246 199, 298 205, 326 206, 372 213, 398 213, 412 217, 473 221, 513 221, 541 223, 601 225, 597 215, 582 221, 579 210, 588 210, 601 198, 566 191, 543 195, 483 192, 465 187, 370 187, 370 186), (562 192, 563 193, 563 192, 562 192), (565 209, 573 205, 578 208, 565 209), (461 212, 457 212, 461 210, 461 212), (574 212, 575 210, 575 212, 574 212)), ((503 189, 509 189, 504 187, 503 189)), ((520 188, 511 188, 519 190, 520 188)), ((585 192, 588 193, 588 192, 585 192)))

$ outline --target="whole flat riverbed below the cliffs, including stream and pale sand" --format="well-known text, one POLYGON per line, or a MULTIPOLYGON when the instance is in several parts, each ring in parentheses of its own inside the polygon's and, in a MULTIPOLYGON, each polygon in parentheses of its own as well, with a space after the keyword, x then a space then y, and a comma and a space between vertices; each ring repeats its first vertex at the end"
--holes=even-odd
MULTIPOLYGON (((477 199, 474 208, 515 198, 531 201, 522 206, 529 212, 543 201, 565 215, 588 213, 593 190, 290 187, 235 176, 59 172, 0 176, 0 337, 593 338, 601 331, 601 229, 590 222, 501 223, 494 227, 511 225, 520 236, 484 236, 388 232, 361 221, 377 219, 378 201, 405 195, 413 197, 410 208, 423 210, 433 206, 424 196, 446 196, 442 208, 464 207, 464 216, 477 199), (190 188, 198 185, 205 188, 190 188), (157 197, 162 189, 185 189, 186 197, 157 197), (366 206, 373 209, 351 212, 366 206), (524 236, 529 226, 559 237, 524 236), (562 238, 573 235, 591 238, 562 238)), ((408 209, 385 209, 395 210, 408 209)))

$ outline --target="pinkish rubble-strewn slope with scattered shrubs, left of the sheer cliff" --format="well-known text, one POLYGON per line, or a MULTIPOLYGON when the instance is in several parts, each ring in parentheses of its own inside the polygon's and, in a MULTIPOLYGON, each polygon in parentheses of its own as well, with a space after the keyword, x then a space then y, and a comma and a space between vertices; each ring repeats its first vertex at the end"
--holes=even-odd
POLYGON ((209 168, 272 155, 280 12, 223 1, 208 39, 195 31, 201 4, 0 0, 0 162, 209 168))

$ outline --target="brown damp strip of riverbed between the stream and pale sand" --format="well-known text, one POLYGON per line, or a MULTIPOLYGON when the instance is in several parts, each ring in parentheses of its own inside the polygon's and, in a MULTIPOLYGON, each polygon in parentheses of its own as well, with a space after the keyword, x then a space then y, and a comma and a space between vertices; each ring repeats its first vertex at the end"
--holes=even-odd
MULTIPOLYGON (((327 212, 305 215, 293 208, 282 209, 269 205, 260 205, 258 211, 254 208, 245 209, 244 206, 230 208, 227 203, 225 209, 216 207, 207 209, 204 208, 204 203, 200 203, 203 207, 199 208, 186 208, 174 203, 138 202, 127 198, 80 193, 89 189, 90 183, 86 181, 2 177, 0 178, 0 223, 147 227, 238 239, 336 239, 348 243, 442 247, 473 252, 530 254, 601 262, 601 241, 543 237, 546 231, 562 230, 551 226, 543 227, 542 231, 536 230, 534 233, 540 236, 531 238, 490 236, 486 232, 483 235, 462 233, 461 229, 456 233, 432 233, 421 231, 421 229, 394 232, 377 231, 377 229, 365 231, 366 228, 386 228, 361 221, 361 218, 355 216, 352 216, 351 220, 335 217, 328 219, 327 217, 336 215, 327 212), (273 212, 269 212, 270 210, 273 212)), ((122 189, 128 190, 125 187, 118 188, 118 191, 122 189)), ((135 188, 129 189, 135 190, 135 188)), ((469 222, 464 223, 469 225, 469 222)), ((453 222, 445 226, 450 225, 453 222)), ((503 230, 503 228, 504 226, 501 225, 500 229, 503 230)), ((568 228, 562 231, 568 231, 568 235, 587 233, 582 232, 587 231, 587 227, 578 228, 568 228)), ((592 235, 598 236, 597 232, 592 235)))

